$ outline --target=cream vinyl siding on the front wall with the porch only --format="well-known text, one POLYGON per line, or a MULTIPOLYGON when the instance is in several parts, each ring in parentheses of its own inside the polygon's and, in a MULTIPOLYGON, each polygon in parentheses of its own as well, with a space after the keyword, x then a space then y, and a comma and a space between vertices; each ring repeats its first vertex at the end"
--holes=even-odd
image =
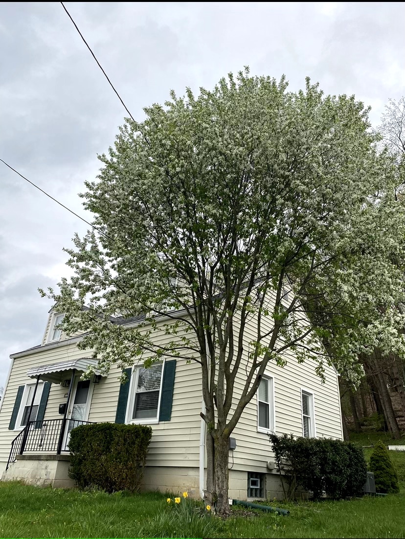
MULTIPOLYGON (((156 342, 160 345, 170 340, 172 337, 165 335, 163 330, 156 335, 156 342)), ((30 382, 26 376, 27 370, 36 365, 76 360, 90 355, 91 351, 79 350, 76 343, 66 342, 66 345, 57 348, 39 348, 34 354, 15 358, 3 409, 0 411, 0 462, 3 461, 3 467, 9 457, 11 441, 18 434, 18 431, 9 431, 8 425, 18 386, 30 382)), ((70 376, 70 373, 66 374, 67 378, 70 376)), ((120 376, 121 371, 113 366, 108 377, 102 377, 99 384, 94 384, 89 421, 115 421, 120 376)), ((58 407, 66 402, 67 392, 68 389, 62 388, 60 384, 51 385, 44 419, 62 417, 58 407)), ((185 360, 177 359, 171 421, 151 425, 153 434, 147 461, 149 466, 198 466, 201 398, 199 365, 186 364, 185 360)))

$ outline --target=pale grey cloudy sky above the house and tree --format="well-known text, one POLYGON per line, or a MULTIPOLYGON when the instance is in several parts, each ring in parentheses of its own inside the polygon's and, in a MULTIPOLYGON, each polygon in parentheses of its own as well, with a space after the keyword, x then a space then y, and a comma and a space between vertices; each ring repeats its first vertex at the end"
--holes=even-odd
MULTIPOLYGON (((355 94, 378 125, 405 94, 405 3, 66 2, 135 119, 173 88, 245 65, 290 88, 355 94)), ((0 158, 87 220, 78 193, 126 115, 59 2, 0 3, 0 158)), ((39 344, 74 232, 87 225, 0 162, 0 386, 39 344)))

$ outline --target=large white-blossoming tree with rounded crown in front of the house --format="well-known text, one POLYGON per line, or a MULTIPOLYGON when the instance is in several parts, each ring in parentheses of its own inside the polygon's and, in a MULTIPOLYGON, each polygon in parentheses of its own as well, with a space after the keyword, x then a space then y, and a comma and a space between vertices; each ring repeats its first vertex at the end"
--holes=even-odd
POLYGON ((146 366, 164 356, 200 365, 206 503, 217 500, 219 513, 228 511, 229 436, 269 362, 284 365, 288 350, 299 361, 315 354, 319 376, 333 359, 358 379, 361 349, 402 351, 403 315, 392 309, 402 275, 390 254, 403 212, 367 112, 309 80, 292 93, 284 78, 230 74, 211 92, 171 93, 145 121, 128 120, 86 184, 98 233, 75 237, 74 276, 50 296, 66 331, 88 332, 79 347, 93 348, 104 372, 144 357, 146 366), (111 322, 117 313, 145 319, 124 328, 111 322), (162 347, 154 335, 164 313, 172 340, 162 347))

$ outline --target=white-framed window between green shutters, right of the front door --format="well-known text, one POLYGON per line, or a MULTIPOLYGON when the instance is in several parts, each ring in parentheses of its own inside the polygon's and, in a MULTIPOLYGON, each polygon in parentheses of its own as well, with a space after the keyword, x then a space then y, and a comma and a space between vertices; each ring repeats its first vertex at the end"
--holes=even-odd
POLYGON ((162 363, 148 369, 138 367, 134 371, 132 421, 157 420, 162 387, 162 363))

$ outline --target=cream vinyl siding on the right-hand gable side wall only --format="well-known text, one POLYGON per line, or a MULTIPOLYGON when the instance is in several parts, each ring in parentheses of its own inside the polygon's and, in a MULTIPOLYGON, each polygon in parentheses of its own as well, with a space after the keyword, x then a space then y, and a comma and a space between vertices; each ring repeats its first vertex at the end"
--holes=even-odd
MULTIPOLYGON (((262 331, 270 330, 270 320, 262 321, 262 331), (267 327, 267 328, 266 328, 267 327)), ((244 361, 247 361, 249 342, 256 340, 256 319, 250 320, 243 340, 244 361)), ((315 374, 315 361, 311 358, 298 363, 294 354, 286 350, 285 367, 270 362, 265 375, 273 378, 275 403, 275 431, 277 434, 302 436, 301 389, 314 395, 316 436, 341 439, 341 416, 339 406, 339 386, 336 371, 325 364, 325 384, 315 374)), ((245 369, 241 368, 235 381, 234 406, 245 384, 245 369)), ((267 461, 273 458, 268 435, 257 431, 257 398, 250 401, 242 413, 232 434, 236 438, 233 452, 233 468, 249 471, 266 471, 267 461)), ((231 457, 232 462, 232 457, 231 457)))

